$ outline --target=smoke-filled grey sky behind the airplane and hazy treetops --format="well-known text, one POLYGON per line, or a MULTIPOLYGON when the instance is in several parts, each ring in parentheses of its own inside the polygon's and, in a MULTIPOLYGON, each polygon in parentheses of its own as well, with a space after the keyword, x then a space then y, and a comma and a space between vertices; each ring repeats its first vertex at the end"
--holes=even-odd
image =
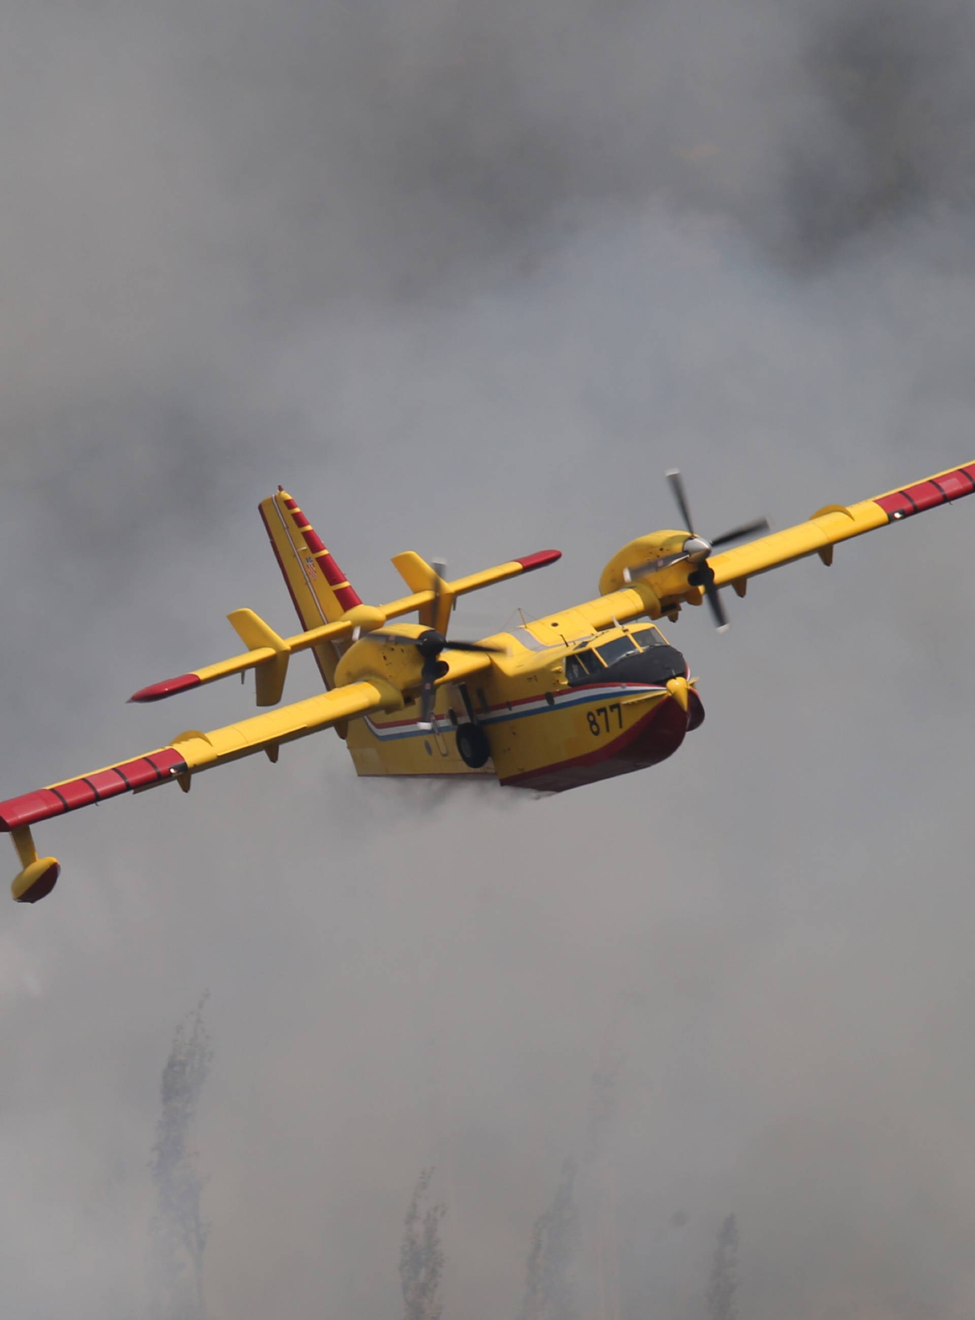
MULTIPOLYGON (((967 7, 0 22, 3 796, 250 713, 124 698, 235 651, 231 609, 292 628, 277 482, 366 599, 400 549, 560 546, 465 602, 489 632, 672 524, 670 466, 720 532, 975 457, 967 7)), ((447 1313, 517 1313, 606 1051, 625 1320, 703 1313, 729 1210, 754 1320, 970 1315, 972 535, 963 503, 758 579, 720 638, 686 611, 708 719, 642 775, 359 784, 325 735, 38 830, 62 880, 0 928, 7 1312, 141 1304, 209 987, 217 1320, 395 1316, 429 1162, 447 1313)))

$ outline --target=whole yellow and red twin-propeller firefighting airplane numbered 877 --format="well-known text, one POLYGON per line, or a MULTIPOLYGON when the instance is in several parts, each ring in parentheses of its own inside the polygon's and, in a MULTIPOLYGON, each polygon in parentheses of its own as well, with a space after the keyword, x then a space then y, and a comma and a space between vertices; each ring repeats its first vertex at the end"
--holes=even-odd
POLYGON ((18 903, 50 894, 61 867, 40 857, 33 825, 126 792, 176 780, 189 791, 211 766, 263 751, 276 762, 281 743, 322 729, 345 739, 359 775, 494 776, 498 783, 560 792, 655 766, 704 719, 696 680, 657 620, 676 620, 682 605, 707 601, 727 627, 719 589, 744 597, 748 579, 975 491, 975 463, 846 507, 828 504, 807 523, 721 549, 768 529, 765 519, 708 540, 694 531, 679 473, 667 474, 682 531, 651 532, 625 545, 602 570, 600 594, 510 632, 480 642, 448 642, 454 601, 560 558, 540 550, 482 573, 447 581, 444 568, 411 550, 392 562, 410 594, 363 605, 283 488, 260 504, 303 631, 279 636, 252 610, 230 623, 243 655, 143 688, 132 701, 160 701, 227 675, 255 672, 259 706, 281 700, 288 661, 312 651, 326 690, 210 733, 190 730, 143 756, 0 803, 21 870, 18 903), (390 620, 419 612, 419 623, 390 620))

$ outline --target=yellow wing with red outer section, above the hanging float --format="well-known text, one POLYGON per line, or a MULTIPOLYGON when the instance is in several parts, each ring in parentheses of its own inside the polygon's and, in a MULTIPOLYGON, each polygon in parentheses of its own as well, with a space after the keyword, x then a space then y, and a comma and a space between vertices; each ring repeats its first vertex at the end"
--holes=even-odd
POLYGON ((239 760, 258 751, 267 752, 276 760, 281 743, 307 738, 321 729, 329 729, 340 719, 363 715, 370 710, 396 709, 399 705, 400 693, 382 680, 351 682, 210 733, 190 730, 174 738, 168 747, 157 747, 131 760, 116 762, 103 770, 0 803, 0 830, 29 828, 79 807, 91 807, 120 793, 155 788, 170 779, 189 788, 189 776, 201 770, 239 760))

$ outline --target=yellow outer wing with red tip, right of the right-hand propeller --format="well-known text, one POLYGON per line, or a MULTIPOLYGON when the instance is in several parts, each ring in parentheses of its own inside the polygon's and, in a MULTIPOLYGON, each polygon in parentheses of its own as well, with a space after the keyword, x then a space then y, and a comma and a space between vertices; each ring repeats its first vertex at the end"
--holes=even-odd
POLYGON ((876 495, 859 504, 849 507, 828 504, 814 513, 807 523, 712 554, 708 565, 717 586, 735 583, 741 590, 748 578, 768 573, 779 564, 791 564, 793 560, 801 560, 807 554, 819 554, 826 564, 830 564, 832 546, 838 541, 861 536, 889 523, 900 523, 905 517, 913 517, 914 513, 923 513, 941 504, 953 504, 972 492, 975 492, 975 463, 951 467, 922 482, 876 495))

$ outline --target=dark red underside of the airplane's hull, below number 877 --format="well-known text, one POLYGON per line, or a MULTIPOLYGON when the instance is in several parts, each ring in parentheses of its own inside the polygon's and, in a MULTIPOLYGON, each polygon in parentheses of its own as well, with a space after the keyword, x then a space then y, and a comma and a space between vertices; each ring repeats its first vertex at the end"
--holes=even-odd
POLYGON ((686 734, 704 719, 704 706, 696 692, 690 693, 690 705, 683 711, 671 697, 662 701, 649 714, 620 738, 596 751, 572 760, 544 766, 542 770, 502 779, 505 788, 532 788, 542 793, 563 793, 600 779, 629 775, 634 770, 659 766, 672 756, 686 734))

